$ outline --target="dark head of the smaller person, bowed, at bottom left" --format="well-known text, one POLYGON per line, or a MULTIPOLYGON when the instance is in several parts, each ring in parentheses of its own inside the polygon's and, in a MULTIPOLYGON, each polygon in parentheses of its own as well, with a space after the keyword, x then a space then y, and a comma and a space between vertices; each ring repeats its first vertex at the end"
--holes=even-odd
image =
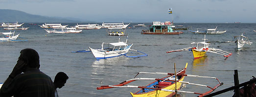
POLYGON ((55 88, 62 88, 63 86, 65 86, 65 83, 67 82, 67 79, 69 77, 67 76, 67 74, 65 74, 64 72, 59 72, 57 73, 57 75, 54 78, 54 85, 55 88))

